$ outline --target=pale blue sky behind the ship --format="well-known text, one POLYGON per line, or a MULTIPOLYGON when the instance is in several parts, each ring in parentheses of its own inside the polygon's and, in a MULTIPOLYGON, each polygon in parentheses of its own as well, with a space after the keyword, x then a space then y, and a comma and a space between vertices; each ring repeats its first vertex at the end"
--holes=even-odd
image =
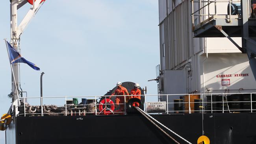
MULTIPOLYGON (((30 4, 18 10, 20 22, 30 4)), ((11 99, 9 0, 0 5, 0 114, 11 99)), ((104 95, 117 81, 147 86, 157 94, 160 63, 158 0, 46 0, 20 38, 21 54, 41 70, 20 64, 28 97, 104 95)), ((0 132, 0 142, 5 138, 0 132)))

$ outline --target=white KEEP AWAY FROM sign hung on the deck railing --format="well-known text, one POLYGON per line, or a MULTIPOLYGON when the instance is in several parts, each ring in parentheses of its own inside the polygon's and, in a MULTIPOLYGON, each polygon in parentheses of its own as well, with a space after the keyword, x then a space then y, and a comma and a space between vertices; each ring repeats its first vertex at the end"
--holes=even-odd
POLYGON ((166 113, 165 102, 147 102, 147 113, 166 113))

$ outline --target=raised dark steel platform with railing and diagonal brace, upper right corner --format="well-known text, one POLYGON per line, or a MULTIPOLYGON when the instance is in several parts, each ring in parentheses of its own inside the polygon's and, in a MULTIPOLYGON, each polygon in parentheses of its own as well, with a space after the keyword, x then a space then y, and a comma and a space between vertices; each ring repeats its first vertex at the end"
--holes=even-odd
MULTIPOLYGON (((226 37, 247 54, 256 78, 256 3, 250 0, 191 0, 194 37, 226 37), (226 5, 226 12, 219 6, 226 5), (218 11, 219 10, 219 11, 218 11), (240 47, 231 37, 241 37, 240 47)), ((217 42, 217 41, 216 41, 217 42)))

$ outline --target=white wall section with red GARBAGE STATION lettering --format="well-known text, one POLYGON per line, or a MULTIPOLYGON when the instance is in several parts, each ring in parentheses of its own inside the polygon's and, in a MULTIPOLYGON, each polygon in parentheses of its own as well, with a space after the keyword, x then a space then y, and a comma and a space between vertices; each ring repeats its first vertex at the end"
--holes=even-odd
POLYGON ((230 92, 255 92, 256 81, 249 65, 247 54, 221 53, 209 54, 204 63, 205 90, 222 93, 225 89, 230 92), (245 76, 239 76, 244 74, 245 76), (218 78, 219 75, 223 78, 218 78), (247 76, 248 75, 248 76, 247 76), (230 79, 230 85, 222 85, 222 79, 230 79), (241 90, 243 89, 243 90, 241 90))

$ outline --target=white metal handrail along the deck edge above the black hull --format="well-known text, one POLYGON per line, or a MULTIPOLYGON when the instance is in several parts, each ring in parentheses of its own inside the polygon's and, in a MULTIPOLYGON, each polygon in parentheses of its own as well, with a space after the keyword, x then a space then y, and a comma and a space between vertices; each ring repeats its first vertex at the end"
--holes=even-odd
MULTIPOLYGON (((191 113, 194 113, 194 112, 201 112, 201 111, 210 112, 210 113, 214 113, 216 111, 222 111, 222 113, 224 113, 226 111, 230 111, 230 112, 232 112, 232 111, 250 111, 250 113, 252 113, 252 111, 256 110, 256 107, 253 107, 253 105, 256 105, 256 101, 252 100, 252 94, 254 94, 254 96, 256 98, 256 92, 206 93, 206 94, 205 93, 204 94, 147 94, 147 95, 135 95, 135 96, 144 96, 145 97, 145 103, 144 103, 143 107, 145 108, 146 112, 147 112, 147 107, 146 107, 147 102, 150 102, 150 101, 152 102, 152 98, 157 99, 158 96, 163 96, 163 99, 165 99, 163 101, 166 101, 166 106, 167 106, 166 113, 167 114, 173 113, 173 112, 185 112, 185 113, 191 114, 191 113), (244 100, 243 101, 243 100, 238 99, 237 101, 228 101, 228 100, 226 101, 227 96, 230 97, 230 95, 232 95, 232 94, 247 94, 248 98, 250 97, 250 100, 244 100), (249 94, 250 94, 250 96, 249 96, 249 94), (191 96, 193 96, 193 95, 199 95, 199 97, 202 99, 202 102, 193 102, 193 101, 191 102, 191 98, 192 98, 191 96), (217 96, 219 95, 222 98, 221 98, 221 100, 213 102, 213 95, 217 95, 217 96), (188 98, 187 101, 183 101, 183 102, 171 102, 170 101, 170 100, 173 100, 175 98, 179 98, 180 96, 188 96, 189 98, 188 98), (208 98, 207 98, 208 101, 206 101, 206 96, 210 96, 210 101, 209 101, 208 98), (171 109, 173 109, 173 105, 176 104, 176 103, 180 103, 182 105, 187 104, 188 110, 185 110, 185 111, 183 111, 183 110, 180 110, 180 111, 171 110, 171 109), (194 103, 194 104, 195 103, 200 103, 200 105, 202 105, 203 108, 199 109, 199 110, 192 109, 194 107, 191 107, 191 103, 194 103), (222 104, 221 109, 216 109, 216 108, 213 109, 213 103, 215 103, 215 104, 221 103, 222 104), (233 108, 231 107, 231 108, 226 109, 225 105, 227 105, 227 106, 228 106, 228 104, 232 105, 232 103, 246 103, 247 107, 246 108, 239 107, 238 109, 233 109, 234 107, 233 108), (249 105, 250 105, 250 108, 249 108, 249 105), (208 109, 205 109, 204 107, 207 107, 208 109)), ((125 95, 124 97, 126 97, 126 96, 129 96, 129 95, 125 95)), ((51 114, 64 114, 65 116, 67 116, 67 115, 70 115, 70 113, 71 113, 71 112, 69 112, 70 108, 71 108, 70 107, 71 105, 67 104, 67 99, 68 98, 88 98, 88 97, 91 97, 91 99, 94 99, 95 102, 96 102, 96 100, 98 98, 108 97, 108 96, 55 96, 55 97, 49 97, 48 96, 48 97, 27 97, 27 98, 23 97, 23 98, 18 98, 13 102, 13 106, 15 106, 15 107, 13 107, 13 111, 15 111, 15 115, 17 115, 17 116, 19 116, 19 115, 30 116, 31 114, 37 114, 38 115, 39 113, 27 113, 26 112, 26 108, 28 109, 28 107, 36 106, 36 105, 28 105, 28 104, 25 105, 25 103, 23 103, 22 105, 19 105, 19 101, 21 101, 21 100, 22 100, 22 102, 26 102, 26 101, 28 101, 28 99, 33 100, 33 99, 37 98, 40 101, 42 100, 41 101, 42 103, 40 103, 40 105, 39 105, 39 107, 40 107, 39 110, 41 111, 40 115, 44 116, 44 114, 49 114, 49 113, 45 112, 44 107, 52 106, 52 104, 51 105, 45 105, 43 102, 47 102, 47 101, 46 100, 43 101, 43 99, 50 99, 50 98, 63 98, 64 99, 65 98, 65 104, 63 104, 65 106, 65 113, 51 113, 51 114), (19 107, 20 107, 20 109, 18 109, 19 107), (18 110, 22 110, 22 111, 24 111, 24 113, 19 113, 18 110)), ((114 103, 114 104, 116 104, 116 103, 114 103)), ((58 107, 58 106, 63 106, 63 105, 59 104, 59 105, 55 105, 55 106, 58 107)), ((91 105, 91 104, 85 104, 85 105, 80 104, 80 105, 72 105, 72 106, 82 106, 82 107, 85 106, 86 107, 87 105, 91 105)), ((93 108, 95 111, 85 112, 85 113, 94 113, 95 115, 102 114, 102 111, 97 111, 98 105, 100 105, 100 104, 95 103, 93 105, 95 105, 95 107, 93 108)), ((111 104, 105 103, 104 105, 111 105, 111 104)), ((126 103, 125 102, 124 103, 119 103, 119 105, 125 105, 126 106, 126 103)), ((124 109, 124 111, 118 111, 118 112, 115 111, 115 113, 126 114, 126 110, 124 109)), ((74 114, 76 114, 76 112, 74 112, 74 114)))

